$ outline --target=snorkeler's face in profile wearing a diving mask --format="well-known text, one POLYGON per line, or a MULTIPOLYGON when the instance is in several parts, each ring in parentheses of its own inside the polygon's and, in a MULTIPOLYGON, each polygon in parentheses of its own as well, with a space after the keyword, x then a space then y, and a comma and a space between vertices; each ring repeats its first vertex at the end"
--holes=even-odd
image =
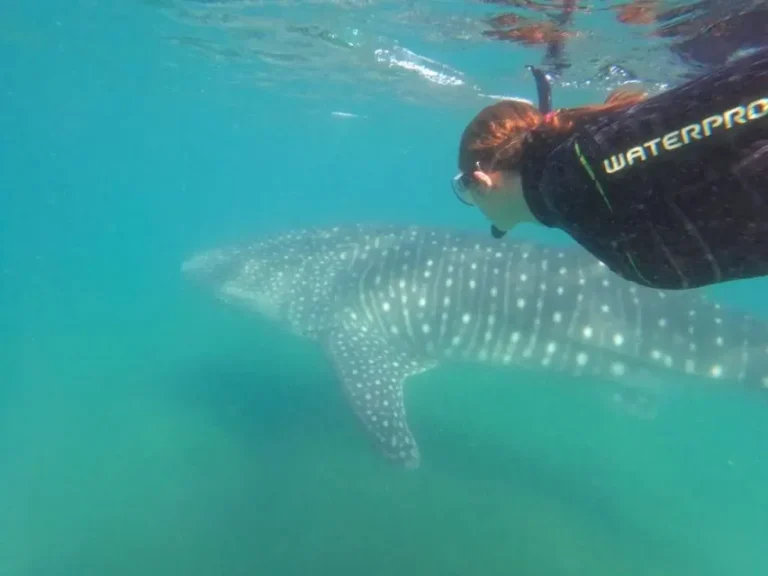
POLYGON ((477 206, 503 232, 532 218, 517 171, 486 172, 477 166, 477 170, 454 178, 453 191, 465 204, 477 206))

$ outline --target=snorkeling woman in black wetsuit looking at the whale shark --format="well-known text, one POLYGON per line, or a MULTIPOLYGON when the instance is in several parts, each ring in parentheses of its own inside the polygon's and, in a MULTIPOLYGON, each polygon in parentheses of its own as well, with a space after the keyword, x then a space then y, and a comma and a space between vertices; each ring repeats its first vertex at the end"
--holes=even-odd
POLYGON ((458 164, 454 192, 496 237, 560 228, 654 288, 768 275, 768 49, 651 98, 547 114, 497 102, 464 130, 458 164))

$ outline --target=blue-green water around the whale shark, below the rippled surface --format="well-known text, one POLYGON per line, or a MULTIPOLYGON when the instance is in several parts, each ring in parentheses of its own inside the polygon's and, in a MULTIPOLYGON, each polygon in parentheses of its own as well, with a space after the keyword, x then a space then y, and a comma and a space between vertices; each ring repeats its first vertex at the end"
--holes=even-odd
MULTIPOLYGON (((646 419, 441 368, 404 472, 319 349, 183 283, 305 224, 484 230, 446 184, 471 111, 236 83, 138 3, 2 11, 0 575, 768 573, 768 398, 665 382, 646 419)), ((766 314, 766 286, 714 292, 766 314)))

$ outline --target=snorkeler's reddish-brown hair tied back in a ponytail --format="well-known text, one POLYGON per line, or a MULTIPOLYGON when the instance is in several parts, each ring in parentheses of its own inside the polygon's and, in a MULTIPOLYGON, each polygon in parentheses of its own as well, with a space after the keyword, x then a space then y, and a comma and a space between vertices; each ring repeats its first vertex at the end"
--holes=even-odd
POLYGON ((567 134, 579 123, 626 108, 648 97, 644 92, 619 89, 603 104, 563 108, 544 116, 528 102, 502 100, 483 108, 464 129, 459 144, 459 170, 468 173, 477 165, 486 171, 514 170, 523 156, 525 137, 548 129, 567 134))

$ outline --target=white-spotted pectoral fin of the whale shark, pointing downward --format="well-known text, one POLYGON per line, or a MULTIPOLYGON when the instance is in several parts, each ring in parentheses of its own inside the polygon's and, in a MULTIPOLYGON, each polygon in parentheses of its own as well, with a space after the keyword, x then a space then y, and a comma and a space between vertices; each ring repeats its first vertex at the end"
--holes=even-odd
POLYGON ((403 382, 433 364, 414 360, 370 332, 339 326, 325 348, 349 402, 385 456, 406 468, 420 464, 419 447, 408 427, 403 382))

